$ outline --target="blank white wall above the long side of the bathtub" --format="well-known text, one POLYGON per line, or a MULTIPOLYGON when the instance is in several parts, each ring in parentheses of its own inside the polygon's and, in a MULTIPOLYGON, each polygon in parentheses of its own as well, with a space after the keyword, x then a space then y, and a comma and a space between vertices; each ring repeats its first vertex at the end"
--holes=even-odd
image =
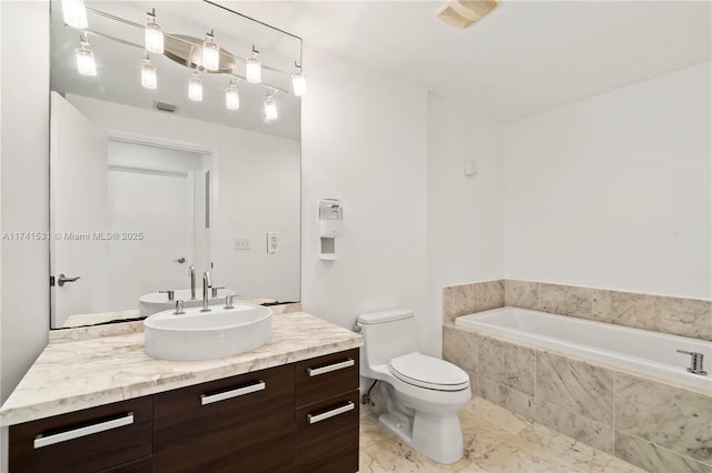
POLYGON ((712 298, 710 62, 506 127, 505 274, 712 298))

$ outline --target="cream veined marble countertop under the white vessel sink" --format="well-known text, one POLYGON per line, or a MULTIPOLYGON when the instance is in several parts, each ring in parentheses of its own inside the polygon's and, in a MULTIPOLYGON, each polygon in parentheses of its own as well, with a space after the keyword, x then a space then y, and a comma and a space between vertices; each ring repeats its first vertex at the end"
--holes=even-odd
POLYGON ((271 341, 216 360, 144 353, 144 333, 50 343, 0 407, 0 426, 170 391, 358 348, 362 335, 305 312, 273 316, 271 341))

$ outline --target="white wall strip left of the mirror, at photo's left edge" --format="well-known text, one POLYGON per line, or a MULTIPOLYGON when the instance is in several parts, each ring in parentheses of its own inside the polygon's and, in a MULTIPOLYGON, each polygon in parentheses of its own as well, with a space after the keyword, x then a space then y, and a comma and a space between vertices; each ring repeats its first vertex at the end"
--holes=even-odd
MULTIPOLYGON (((0 2, 2 232, 49 230, 48 26, 48 3, 0 2), (22 68, 8 66, 19 63, 22 68)), ((47 345, 49 243, 4 240, 0 252, 0 402, 4 402, 47 345)), ((7 429, 0 430, 0 471, 7 471, 7 429)))

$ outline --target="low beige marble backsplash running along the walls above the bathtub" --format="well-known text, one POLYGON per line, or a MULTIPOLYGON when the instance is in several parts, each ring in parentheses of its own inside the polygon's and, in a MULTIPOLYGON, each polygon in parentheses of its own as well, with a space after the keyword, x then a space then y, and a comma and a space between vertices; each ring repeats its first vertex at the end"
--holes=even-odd
POLYGON ((443 288, 443 322, 505 305, 712 340, 712 301, 498 280, 443 288))

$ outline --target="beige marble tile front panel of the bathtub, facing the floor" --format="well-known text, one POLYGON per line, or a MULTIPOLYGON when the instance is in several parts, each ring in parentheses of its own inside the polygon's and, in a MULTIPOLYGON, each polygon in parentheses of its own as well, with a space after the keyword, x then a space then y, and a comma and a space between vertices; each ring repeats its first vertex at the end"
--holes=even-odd
POLYGON ((651 472, 712 473, 712 393, 453 324, 443 356, 469 373, 476 395, 578 442, 651 472))

